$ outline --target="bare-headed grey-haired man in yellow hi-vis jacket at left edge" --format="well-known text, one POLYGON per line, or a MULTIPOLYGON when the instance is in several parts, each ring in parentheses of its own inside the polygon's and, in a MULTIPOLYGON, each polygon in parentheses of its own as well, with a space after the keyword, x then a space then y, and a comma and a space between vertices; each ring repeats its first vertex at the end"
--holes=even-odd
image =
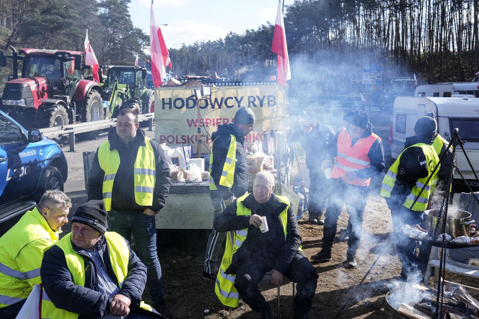
POLYGON ((0 238, 0 318, 14 319, 33 286, 40 284, 43 251, 57 242, 68 222, 71 200, 60 190, 47 190, 38 206, 0 238))

